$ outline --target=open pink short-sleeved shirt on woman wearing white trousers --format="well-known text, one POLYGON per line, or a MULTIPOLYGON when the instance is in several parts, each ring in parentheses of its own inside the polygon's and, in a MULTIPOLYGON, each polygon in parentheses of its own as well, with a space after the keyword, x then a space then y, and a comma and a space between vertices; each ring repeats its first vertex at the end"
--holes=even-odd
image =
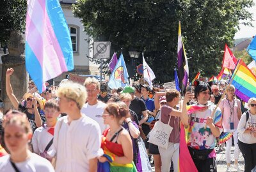
POLYGON ((234 99, 233 101, 228 101, 227 98, 221 100, 219 107, 223 111, 222 115, 222 126, 223 129, 230 129, 230 121, 234 122, 234 129, 238 126, 238 110, 241 111, 241 101, 239 99, 234 99), (233 113, 231 114, 231 110, 233 113))

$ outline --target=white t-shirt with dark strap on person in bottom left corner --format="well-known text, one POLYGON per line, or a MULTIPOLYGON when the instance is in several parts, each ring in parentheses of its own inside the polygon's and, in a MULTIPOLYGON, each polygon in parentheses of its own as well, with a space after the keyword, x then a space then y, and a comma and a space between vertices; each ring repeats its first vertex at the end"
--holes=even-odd
MULTIPOLYGON (((39 155, 30 153, 31 157, 24 162, 15 163, 20 172, 54 172, 51 162, 39 155)), ((0 157, 1 172, 15 172, 11 162, 10 155, 0 157)))

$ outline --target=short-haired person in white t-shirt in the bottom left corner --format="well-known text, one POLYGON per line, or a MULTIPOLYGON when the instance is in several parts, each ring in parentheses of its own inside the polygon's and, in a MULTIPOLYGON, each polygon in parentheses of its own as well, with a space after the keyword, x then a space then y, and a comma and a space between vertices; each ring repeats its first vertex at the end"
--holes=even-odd
POLYGON ((29 151, 32 131, 26 114, 8 111, 4 116, 3 128, 4 143, 10 155, 0 158, 0 171, 54 171, 51 162, 29 151))

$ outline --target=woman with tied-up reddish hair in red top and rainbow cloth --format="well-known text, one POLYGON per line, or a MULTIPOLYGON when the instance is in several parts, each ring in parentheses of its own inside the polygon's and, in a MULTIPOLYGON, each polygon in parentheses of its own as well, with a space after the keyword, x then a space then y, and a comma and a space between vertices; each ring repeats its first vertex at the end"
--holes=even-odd
MULTIPOLYGON (((114 157, 113 162, 110 162, 110 171, 136 171, 132 161, 132 140, 121 125, 128 115, 129 111, 116 103, 109 103, 102 114, 104 124, 108 124, 109 128, 103 132, 101 148, 105 154, 114 157)), ((102 163, 109 161, 105 156, 98 159, 102 163)))

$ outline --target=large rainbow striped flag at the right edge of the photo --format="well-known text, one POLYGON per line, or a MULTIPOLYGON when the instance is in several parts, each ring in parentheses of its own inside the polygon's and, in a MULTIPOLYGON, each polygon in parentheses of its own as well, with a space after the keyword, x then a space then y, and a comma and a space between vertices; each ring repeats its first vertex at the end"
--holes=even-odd
POLYGON ((237 62, 231 78, 232 85, 236 88, 236 95, 248 102, 251 97, 256 97, 256 76, 246 66, 242 59, 237 62))

